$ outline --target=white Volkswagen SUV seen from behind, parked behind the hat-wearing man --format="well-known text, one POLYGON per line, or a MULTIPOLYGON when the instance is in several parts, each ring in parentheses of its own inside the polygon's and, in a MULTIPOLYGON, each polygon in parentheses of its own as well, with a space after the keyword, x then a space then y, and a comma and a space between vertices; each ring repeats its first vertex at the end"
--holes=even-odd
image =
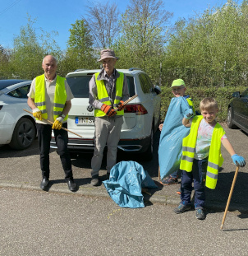
MULTIPOLYGON (((118 149, 144 153, 147 159, 153 155, 154 132, 160 122, 161 90, 154 86, 148 75, 138 68, 117 69, 127 78, 130 97, 138 95, 126 105, 124 123, 118 149)), ((94 150, 94 109, 89 105, 89 81, 100 70, 78 69, 67 74, 74 99, 68 117, 68 129, 80 134, 68 133, 68 149, 71 152, 94 150)), ((51 147, 57 148, 52 137, 51 147)))

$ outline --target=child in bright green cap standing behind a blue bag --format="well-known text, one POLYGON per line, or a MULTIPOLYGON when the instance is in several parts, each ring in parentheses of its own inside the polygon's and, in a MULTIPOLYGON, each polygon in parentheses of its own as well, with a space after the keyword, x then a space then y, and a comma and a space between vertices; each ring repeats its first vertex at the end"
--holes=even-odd
MULTIPOLYGON (((185 95, 186 94, 186 86, 185 86, 185 82, 182 79, 176 79, 174 81, 172 81, 172 94, 178 98, 178 97, 184 97, 187 100, 187 103, 189 105, 189 109, 192 109, 192 113, 195 115, 195 108, 193 105, 193 102, 190 98, 189 95, 185 95)), ((182 116, 179 117, 182 119, 182 116)), ((162 131, 163 128, 163 123, 161 123, 159 125, 159 130, 162 131)), ((171 175, 168 175, 166 177, 164 177, 161 181, 161 183, 163 185, 170 185, 170 184, 177 184, 178 183, 178 170, 175 171, 174 173, 172 173, 171 175)), ((177 193, 181 193, 180 191, 178 191, 177 193)))

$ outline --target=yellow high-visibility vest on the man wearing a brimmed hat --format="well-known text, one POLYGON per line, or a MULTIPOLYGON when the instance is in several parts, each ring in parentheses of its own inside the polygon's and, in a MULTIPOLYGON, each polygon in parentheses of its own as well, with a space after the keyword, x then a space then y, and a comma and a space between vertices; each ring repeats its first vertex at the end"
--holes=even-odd
MULTIPOLYGON (((113 101, 113 108, 116 108, 122 100, 122 88, 123 88, 123 82, 124 82, 124 74, 122 72, 118 72, 120 74, 120 77, 117 78, 116 81, 116 95, 115 99, 113 101)), ((111 100, 109 99, 108 96, 108 91, 106 90, 106 87, 104 85, 103 80, 97 80, 97 77, 99 76, 99 73, 94 74, 95 78, 95 83, 97 86, 97 91, 98 91, 98 100, 102 102, 103 104, 106 105, 112 105, 111 100)), ((124 110, 122 111, 117 111, 117 115, 123 115, 124 110)), ((101 109, 94 109, 94 116, 99 117, 99 116, 104 116, 106 115, 101 109)))

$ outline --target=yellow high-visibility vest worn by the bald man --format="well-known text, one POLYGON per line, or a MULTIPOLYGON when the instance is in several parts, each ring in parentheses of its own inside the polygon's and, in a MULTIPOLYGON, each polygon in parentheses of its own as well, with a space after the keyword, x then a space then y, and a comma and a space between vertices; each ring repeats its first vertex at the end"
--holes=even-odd
MULTIPOLYGON (((53 106, 53 119, 62 114, 62 111, 65 107, 67 101, 67 91, 65 88, 66 78, 57 76, 56 86, 54 91, 54 106, 53 106)), ((46 97, 45 97, 45 76, 41 75, 35 78, 35 95, 34 103, 39 110, 41 110, 42 118, 48 119, 48 112, 46 106, 46 97)), ((68 114, 64 120, 68 119, 68 114)), ((38 120, 38 119, 36 119, 38 120)))

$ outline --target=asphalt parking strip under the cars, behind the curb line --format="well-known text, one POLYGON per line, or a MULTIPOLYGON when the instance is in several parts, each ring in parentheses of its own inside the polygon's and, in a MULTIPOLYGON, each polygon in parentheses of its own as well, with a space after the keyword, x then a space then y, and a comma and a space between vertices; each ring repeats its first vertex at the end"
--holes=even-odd
MULTIPOLYGON (((224 127, 227 132, 227 138, 232 143, 238 155, 244 156, 248 162, 248 135, 240 129, 229 129, 224 127)), ((142 155, 126 154, 118 152, 118 161, 136 161, 143 165, 148 171, 152 179, 158 185, 158 189, 149 191, 150 195, 145 194, 146 202, 162 202, 168 205, 177 205, 180 197, 177 195, 177 189, 180 184, 163 186, 158 183, 158 144, 160 133, 157 131, 154 136, 154 158, 152 161, 146 161, 142 155)), ((74 179, 79 189, 75 194, 87 196, 108 197, 108 193, 103 184, 100 187, 90 186, 90 161, 92 154, 85 153, 72 159, 72 168, 74 179)), ((223 211, 227 203, 227 198, 232 185, 232 179, 236 170, 236 165, 232 163, 232 159, 223 148, 223 157, 225 159, 222 169, 218 175, 218 185, 214 190, 207 189, 206 207, 223 211)), ((39 168, 39 148, 38 140, 25 151, 13 151, 9 147, 0 147, 0 187, 16 187, 20 189, 39 189, 41 180, 41 171, 39 168)), ((106 158, 103 158, 102 170, 99 175, 102 179, 106 175, 106 158)), ((64 180, 62 165, 57 152, 51 149, 50 153, 51 167, 51 188, 49 192, 71 193, 67 189, 64 180)), ((232 202, 229 209, 239 210, 240 212, 248 212, 248 168, 240 168, 237 177, 237 183, 232 194, 232 202)))

